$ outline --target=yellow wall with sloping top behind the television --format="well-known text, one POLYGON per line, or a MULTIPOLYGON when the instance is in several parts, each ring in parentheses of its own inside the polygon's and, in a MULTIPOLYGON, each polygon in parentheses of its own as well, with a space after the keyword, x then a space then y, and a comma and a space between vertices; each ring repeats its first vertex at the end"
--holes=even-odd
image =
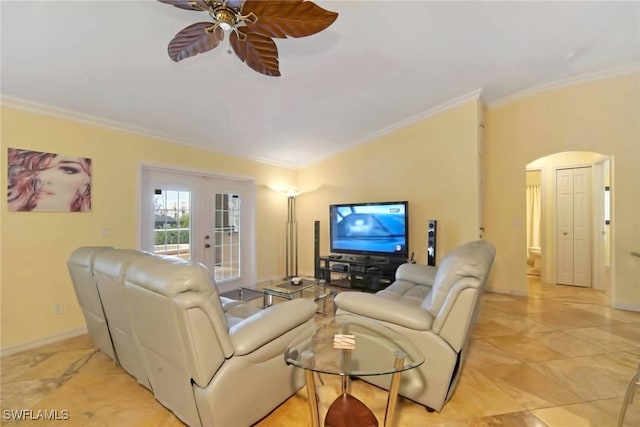
POLYGON ((478 99, 299 171, 300 265, 313 273, 313 222, 329 254, 329 205, 409 201, 409 251, 426 262, 427 220, 438 220, 437 259, 478 236, 478 99))

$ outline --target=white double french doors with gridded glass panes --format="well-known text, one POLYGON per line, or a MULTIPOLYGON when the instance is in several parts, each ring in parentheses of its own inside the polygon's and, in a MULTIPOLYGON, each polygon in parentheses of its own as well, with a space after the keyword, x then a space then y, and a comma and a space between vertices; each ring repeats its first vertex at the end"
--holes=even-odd
POLYGON ((144 168, 143 250, 201 262, 222 290, 255 282, 255 183, 144 168))

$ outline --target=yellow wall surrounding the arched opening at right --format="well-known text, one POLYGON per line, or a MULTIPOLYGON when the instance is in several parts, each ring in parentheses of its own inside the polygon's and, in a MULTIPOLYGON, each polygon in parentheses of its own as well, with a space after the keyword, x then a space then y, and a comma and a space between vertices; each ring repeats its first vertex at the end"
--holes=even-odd
POLYGON ((640 310, 640 73, 575 84, 486 108, 486 238, 491 286, 526 293, 525 169, 565 151, 612 157, 612 303, 640 310))

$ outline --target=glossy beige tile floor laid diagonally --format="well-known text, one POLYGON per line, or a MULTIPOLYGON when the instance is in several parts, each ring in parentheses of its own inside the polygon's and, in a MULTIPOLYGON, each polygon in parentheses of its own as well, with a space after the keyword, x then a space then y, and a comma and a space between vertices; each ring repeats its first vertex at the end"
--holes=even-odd
MULTIPOLYGON (((396 425, 616 426, 640 363, 640 313, 610 308, 602 292, 542 285, 534 277, 529 295, 483 295, 451 401, 440 413, 428 413, 400 399, 396 425)), ((0 364, 3 426, 182 425, 86 335, 5 356, 0 364), (67 414, 69 419, 8 419, 6 411, 20 409, 34 414, 57 410, 60 418, 67 414)), ((336 378, 322 379, 321 414, 339 388, 336 378)), ((355 381, 352 390, 382 424, 386 392, 362 381, 355 381)), ((625 421, 640 425, 640 395, 625 421)), ((310 425, 305 389, 257 425, 310 425)))

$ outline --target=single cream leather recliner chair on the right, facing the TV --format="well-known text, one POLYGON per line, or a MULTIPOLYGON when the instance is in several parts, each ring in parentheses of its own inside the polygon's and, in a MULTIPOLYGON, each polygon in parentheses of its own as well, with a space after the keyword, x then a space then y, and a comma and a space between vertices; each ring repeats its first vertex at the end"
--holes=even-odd
MULTIPOLYGON (((448 253, 438 267, 403 264, 394 283, 376 294, 338 294, 337 314, 380 321, 411 339, 425 362, 402 374, 399 394, 440 411, 463 367, 468 334, 494 257, 494 246, 478 240, 448 253)), ((389 376, 363 379, 389 389, 389 376)))

